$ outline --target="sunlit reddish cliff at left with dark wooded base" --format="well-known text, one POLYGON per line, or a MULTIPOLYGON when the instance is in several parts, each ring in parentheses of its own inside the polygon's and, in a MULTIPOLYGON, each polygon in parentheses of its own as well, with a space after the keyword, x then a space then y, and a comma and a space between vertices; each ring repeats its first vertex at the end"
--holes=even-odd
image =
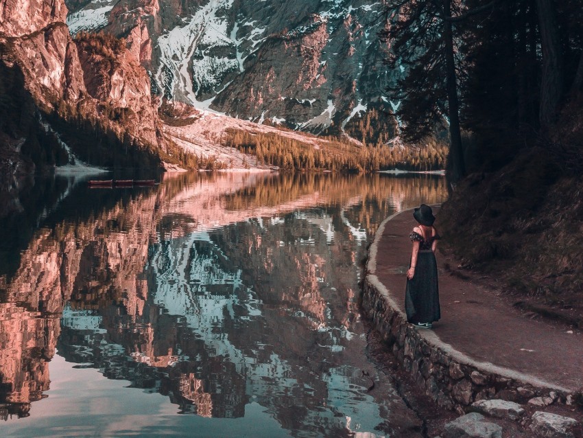
POLYGON ((71 150, 101 165, 159 165, 163 144, 146 71, 123 45, 73 41, 66 17, 62 0, 0 0, 3 170, 64 164, 71 150))

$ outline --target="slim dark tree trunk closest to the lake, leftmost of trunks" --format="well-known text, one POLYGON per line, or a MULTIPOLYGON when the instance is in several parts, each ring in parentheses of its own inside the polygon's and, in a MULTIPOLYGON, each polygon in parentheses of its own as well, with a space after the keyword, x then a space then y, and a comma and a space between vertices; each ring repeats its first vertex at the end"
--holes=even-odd
POLYGON ((464 150, 462 149, 462 134, 460 132, 460 104, 457 101, 453 30, 450 20, 451 0, 443 0, 443 12, 447 103, 449 106, 449 167, 451 169, 449 178, 452 183, 457 183, 466 174, 466 168, 464 165, 464 150))

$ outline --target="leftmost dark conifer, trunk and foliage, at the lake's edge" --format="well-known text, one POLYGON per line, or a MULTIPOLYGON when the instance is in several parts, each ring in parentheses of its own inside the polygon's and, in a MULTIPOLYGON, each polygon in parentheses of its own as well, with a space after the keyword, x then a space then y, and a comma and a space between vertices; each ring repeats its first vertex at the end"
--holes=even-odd
POLYGON ((396 11, 384 35, 390 39, 393 68, 405 71, 390 89, 401 107, 402 135, 408 141, 427 137, 449 125, 447 173, 453 183, 466 174, 457 89, 458 53, 453 17, 462 2, 453 0, 393 0, 396 11), (446 104, 447 102, 447 104, 446 104))

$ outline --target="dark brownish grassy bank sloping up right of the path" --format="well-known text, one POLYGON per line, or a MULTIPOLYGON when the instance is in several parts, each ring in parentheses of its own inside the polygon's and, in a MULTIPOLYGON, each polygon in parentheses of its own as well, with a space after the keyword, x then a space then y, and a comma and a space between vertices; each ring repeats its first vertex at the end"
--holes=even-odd
POLYGON ((516 306, 583 327, 583 181, 549 148, 458 185, 440 211, 444 244, 516 306))

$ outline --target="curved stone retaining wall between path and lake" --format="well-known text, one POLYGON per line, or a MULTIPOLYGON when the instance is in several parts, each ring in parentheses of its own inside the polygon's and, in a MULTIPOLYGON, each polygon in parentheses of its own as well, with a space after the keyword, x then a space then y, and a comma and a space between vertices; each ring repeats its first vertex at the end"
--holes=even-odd
POLYGON ((479 369, 469 360, 456 358, 460 354, 436 347, 427 340, 435 334, 424 330, 422 336, 407 323, 405 314, 392 302, 376 275, 367 275, 362 298, 365 316, 383 336, 403 369, 442 408, 461 413, 477 400, 496 398, 522 403, 536 396, 562 402, 567 398, 561 391, 535 387, 502 373, 479 369))

